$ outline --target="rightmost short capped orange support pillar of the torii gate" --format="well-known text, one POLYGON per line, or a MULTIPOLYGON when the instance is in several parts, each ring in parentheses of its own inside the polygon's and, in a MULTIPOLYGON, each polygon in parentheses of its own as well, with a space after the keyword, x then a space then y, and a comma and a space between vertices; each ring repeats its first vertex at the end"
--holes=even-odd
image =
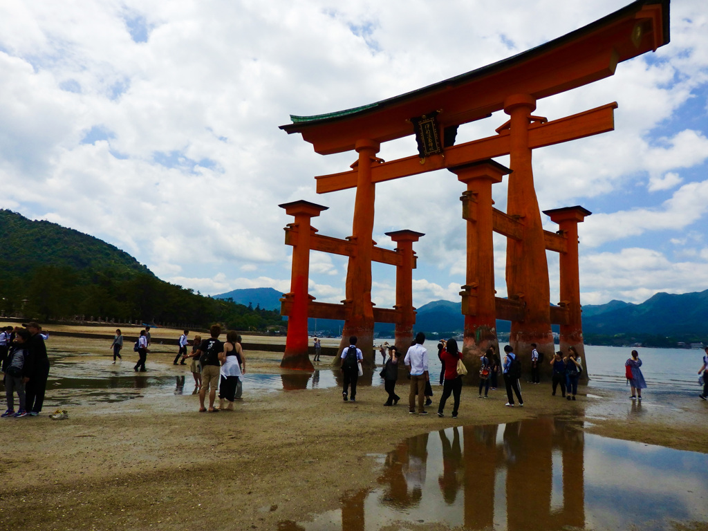
POLYGON ((567 251, 560 253, 560 294, 559 306, 565 307, 568 312, 568 324, 561 324, 560 347, 567 352, 573 346, 583 358, 583 367, 586 369, 581 379, 588 381, 588 360, 585 356, 583 343, 583 320, 580 305, 580 263, 578 261, 578 223, 591 214, 583 207, 556 208, 544 210, 543 213, 551 221, 559 225, 560 233, 567 239, 567 251))

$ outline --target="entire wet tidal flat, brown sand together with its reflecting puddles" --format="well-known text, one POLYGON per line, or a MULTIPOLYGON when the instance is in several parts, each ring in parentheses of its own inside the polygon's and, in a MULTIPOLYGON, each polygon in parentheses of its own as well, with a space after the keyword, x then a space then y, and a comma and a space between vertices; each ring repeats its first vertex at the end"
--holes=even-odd
POLYGON ((345 403, 331 358, 302 373, 253 350, 235 411, 199 413, 188 367, 159 345, 180 332, 154 331, 144 375, 129 344, 113 365, 110 341, 50 336, 42 415, 0 422, 0 529, 708 529, 705 482, 677 467, 706 457, 697 393, 637 404, 583 387, 572 402, 542 382, 512 409, 502 389, 464 387, 459 417, 438 418, 436 385, 428 416, 408 414, 406 379, 383 407, 377 372, 345 403))

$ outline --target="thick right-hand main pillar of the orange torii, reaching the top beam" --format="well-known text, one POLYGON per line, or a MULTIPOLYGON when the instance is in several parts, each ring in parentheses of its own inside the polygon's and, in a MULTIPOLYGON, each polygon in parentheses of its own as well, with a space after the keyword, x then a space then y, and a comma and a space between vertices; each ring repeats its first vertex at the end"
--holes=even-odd
POLYGON ((510 343, 514 351, 528 360, 531 343, 550 359, 554 351, 551 333, 548 262, 541 213, 533 182, 529 126, 544 121, 531 115, 536 100, 527 94, 509 96, 504 111, 510 115, 510 167, 507 214, 523 222, 523 238, 507 239, 506 287, 510 299, 525 302, 523 321, 512 321, 510 343))

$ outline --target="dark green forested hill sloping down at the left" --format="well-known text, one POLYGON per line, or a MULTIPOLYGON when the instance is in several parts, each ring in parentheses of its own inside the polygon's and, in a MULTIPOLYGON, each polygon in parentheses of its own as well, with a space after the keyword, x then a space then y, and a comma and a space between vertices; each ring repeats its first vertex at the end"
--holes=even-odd
POLYGON ((177 326, 256 330, 282 325, 280 312, 251 310, 164 282, 105 241, 0 210, 0 311, 41 321, 83 315, 177 326))

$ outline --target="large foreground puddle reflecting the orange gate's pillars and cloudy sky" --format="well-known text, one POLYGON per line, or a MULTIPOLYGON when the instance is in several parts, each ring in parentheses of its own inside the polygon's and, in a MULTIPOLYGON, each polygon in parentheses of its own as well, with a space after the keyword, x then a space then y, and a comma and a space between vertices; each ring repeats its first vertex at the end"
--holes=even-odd
POLYGON ((377 488, 278 529, 685 529, 708 522, 707 461, 559 418, 448 428, 401 442, 377 488))

